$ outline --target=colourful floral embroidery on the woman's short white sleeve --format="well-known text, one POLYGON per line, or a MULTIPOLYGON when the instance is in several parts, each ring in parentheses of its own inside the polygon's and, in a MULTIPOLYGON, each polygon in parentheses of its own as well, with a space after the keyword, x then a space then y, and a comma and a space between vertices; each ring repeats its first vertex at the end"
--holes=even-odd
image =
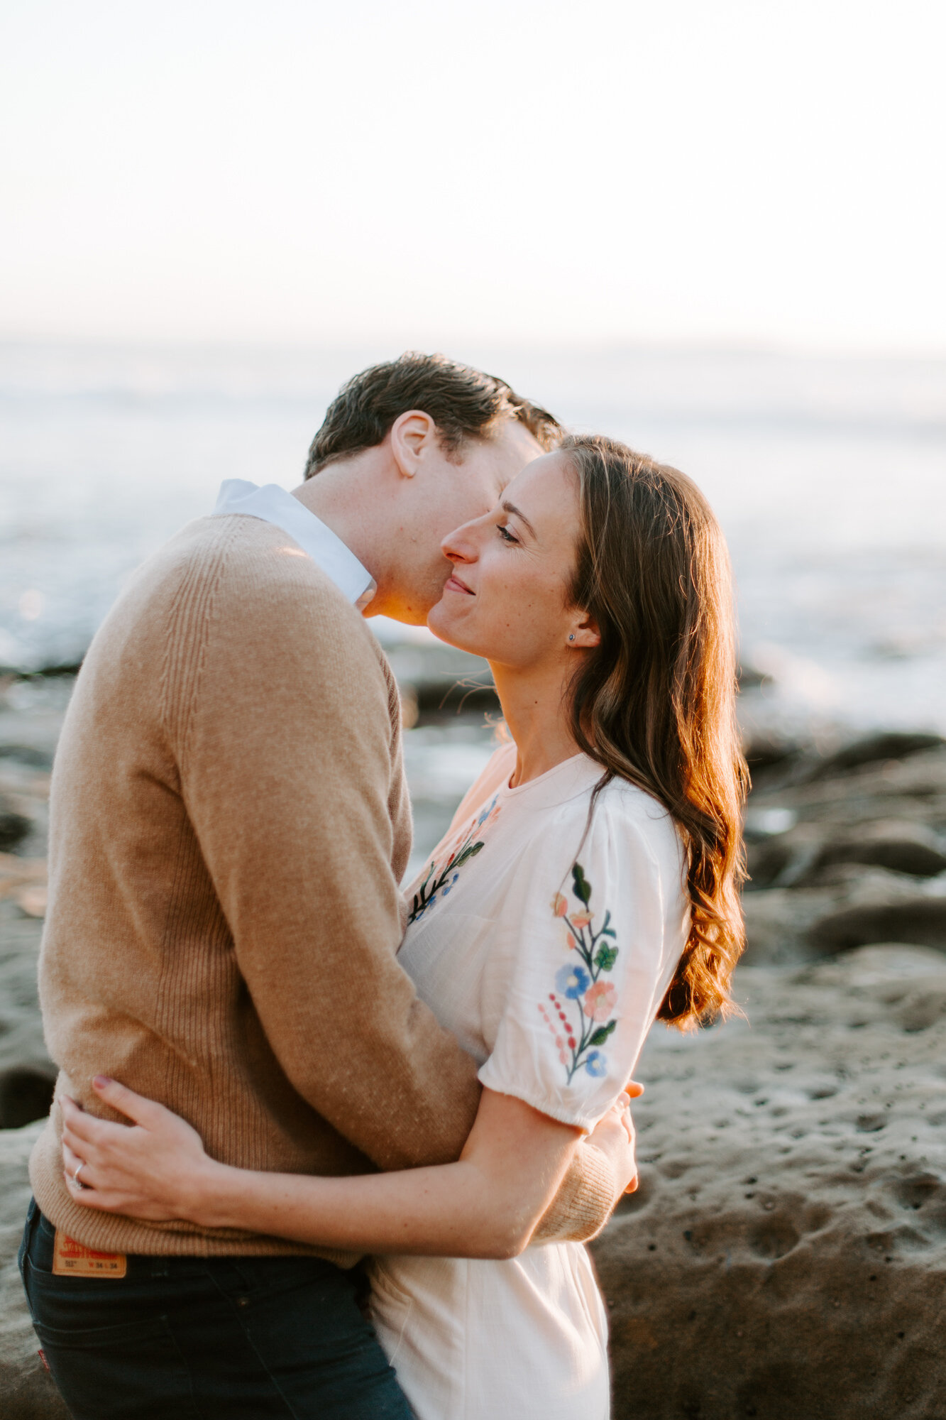
POLYGON ((602 980, 618 960, 611 913, 605 912, 604 922, 595 932, 595 914, 589 907, 591 883, 581 863, 572 866, 571 878, 580 909, 570 913, 568 899, 560 892, 551 907, 564 920, 567 947, 577 953, 578 960, 558 968, 557 990, 548 993, 548 1004, 538 1003, 538 1011, 555 1037, 558 1059, 568 1072, 568 1083, 580 1069, 585 1069, 594 1079, 602 1079, 608 1074, 608 1056, 599 1047, 607 1044, 618 1024, 614 1015, 618 1007, 616 987, 602 980))

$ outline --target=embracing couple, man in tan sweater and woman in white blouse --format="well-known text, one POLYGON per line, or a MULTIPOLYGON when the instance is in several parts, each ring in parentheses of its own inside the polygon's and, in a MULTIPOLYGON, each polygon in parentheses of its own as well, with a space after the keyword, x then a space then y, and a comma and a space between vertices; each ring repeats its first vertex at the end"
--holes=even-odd
POLYGON ((442 356, 145 562, 53 777, 20 1268, 75 1420, 607 1420, 631 1075, 743 943, 734 672, 695 484, 442 356), (374 615, 507 731, 403 890, 374 615))

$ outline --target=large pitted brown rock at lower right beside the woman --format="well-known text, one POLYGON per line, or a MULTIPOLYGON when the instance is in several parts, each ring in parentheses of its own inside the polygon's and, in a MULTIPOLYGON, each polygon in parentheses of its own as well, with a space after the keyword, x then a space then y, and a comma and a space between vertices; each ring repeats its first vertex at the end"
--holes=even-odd
POLYGON ((594 1252, 615 1420, 946 1414, 946 960, 740 968, 749 1022, 658 1028, 642 1186, 594 1252))

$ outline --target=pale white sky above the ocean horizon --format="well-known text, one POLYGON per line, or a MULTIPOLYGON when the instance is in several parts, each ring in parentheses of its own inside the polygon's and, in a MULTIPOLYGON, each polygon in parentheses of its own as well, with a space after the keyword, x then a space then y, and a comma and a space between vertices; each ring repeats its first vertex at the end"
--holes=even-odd
POLYGON ((946 351, 943 0, 4 0, 0 335, 946 351))

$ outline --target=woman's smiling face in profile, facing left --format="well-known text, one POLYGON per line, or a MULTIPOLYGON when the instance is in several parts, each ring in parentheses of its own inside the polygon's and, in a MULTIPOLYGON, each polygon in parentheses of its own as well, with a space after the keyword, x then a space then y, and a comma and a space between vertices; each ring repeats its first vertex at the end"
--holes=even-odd
POLYGON ((577 479, 562 454, 544 454, 490 513, 443 540, 453 575, 428 618, 430 630, 517 669, 587 646, 587 621, 568 605, 577 532, 577 479))

